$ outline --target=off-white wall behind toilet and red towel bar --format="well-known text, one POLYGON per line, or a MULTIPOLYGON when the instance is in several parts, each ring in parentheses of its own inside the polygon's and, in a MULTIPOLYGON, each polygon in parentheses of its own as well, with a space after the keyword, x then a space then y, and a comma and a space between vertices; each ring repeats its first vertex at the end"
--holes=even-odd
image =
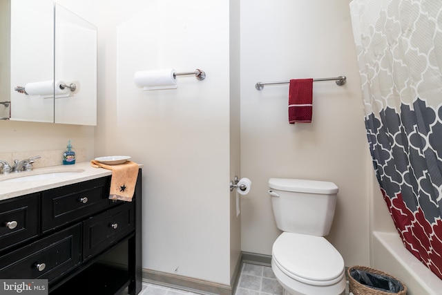
POLYGON ((241 171, 253 182, 242 198, 242 250, 271 254, 280 234, 269 178, 335 182, 331 234, 345 265, 369 264, 368 146, 349 1, 241 1, 241 171), (314 83, 313 122, 288 124, 288 85, 258 81, 347 76, 345 86, 314 83))

